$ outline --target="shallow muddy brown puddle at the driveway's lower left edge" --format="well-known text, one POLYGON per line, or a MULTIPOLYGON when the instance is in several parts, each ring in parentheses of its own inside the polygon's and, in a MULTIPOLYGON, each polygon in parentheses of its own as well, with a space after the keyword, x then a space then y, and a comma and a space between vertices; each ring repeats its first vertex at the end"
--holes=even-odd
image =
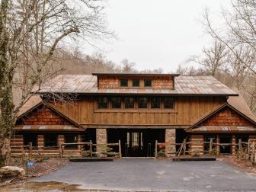
MULTIPOLYGON (((66 184, 60 182, 27 182, 24 184, 14 184, 5 187, 0 187, 0 191, 14 191, 14 192, 40 192, 40 191, 54 191, 54 192, 64 192, 64 191, 85 191, 85 189, 79 189, 81 185, 78 184, 66 184)), ((86 190, 95 191, 95 190, 86 190)))

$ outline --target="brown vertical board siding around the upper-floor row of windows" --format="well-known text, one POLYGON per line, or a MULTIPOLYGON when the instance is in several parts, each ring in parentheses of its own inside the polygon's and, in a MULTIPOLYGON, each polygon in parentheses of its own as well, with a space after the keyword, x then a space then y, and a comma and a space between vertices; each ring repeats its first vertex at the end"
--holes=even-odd
POLYGON ((81 124, 102 125, 190 125, 226 102, 220 97, 175 97, 174 110, 98 110, 95 96, 54 107, 81 124))

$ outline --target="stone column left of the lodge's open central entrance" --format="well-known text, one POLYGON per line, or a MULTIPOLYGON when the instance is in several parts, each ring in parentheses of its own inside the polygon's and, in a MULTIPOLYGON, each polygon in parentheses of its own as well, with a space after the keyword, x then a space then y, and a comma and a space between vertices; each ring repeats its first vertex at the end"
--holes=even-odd
POLYGON ((97 152, 100 157, 107 157, 107 129, 96 129, 97 152))

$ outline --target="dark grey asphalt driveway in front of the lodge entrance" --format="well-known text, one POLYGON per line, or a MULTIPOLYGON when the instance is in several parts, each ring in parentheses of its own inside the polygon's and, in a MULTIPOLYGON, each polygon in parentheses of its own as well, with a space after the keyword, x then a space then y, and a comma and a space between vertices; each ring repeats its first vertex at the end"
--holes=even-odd
POLYGON ((69 162, 59 171, 34 181, 58 181, 105 190, 256 191, 255 175, 225 162, 171 162, 149 158, 69 162))

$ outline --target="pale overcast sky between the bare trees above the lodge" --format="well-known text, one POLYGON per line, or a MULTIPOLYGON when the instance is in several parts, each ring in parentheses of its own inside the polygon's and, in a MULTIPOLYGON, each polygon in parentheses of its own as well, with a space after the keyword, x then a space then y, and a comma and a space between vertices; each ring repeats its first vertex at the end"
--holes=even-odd
MULTIPOLYGON (((118 40, 98 44, 116 63, 136 62, 136 69, 175 71, 191 55, 210 43, 199 20, 206 6, 220 11, 228 0, 109 0, 106 9, 110 28, 118 40), (224 4, 224 5, 223 5, 224 4)), ((84 48, 92 53, 92 48, 84 48)))

